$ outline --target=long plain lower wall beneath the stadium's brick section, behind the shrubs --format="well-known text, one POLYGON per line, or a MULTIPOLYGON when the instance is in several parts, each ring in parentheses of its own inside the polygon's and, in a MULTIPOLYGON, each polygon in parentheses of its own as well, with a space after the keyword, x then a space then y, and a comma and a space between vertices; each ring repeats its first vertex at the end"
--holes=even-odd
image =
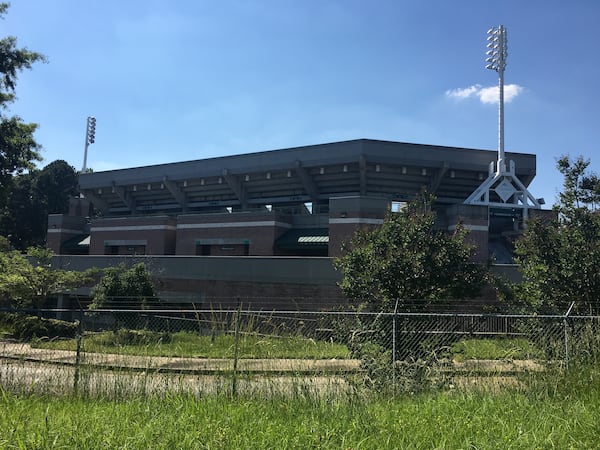
MULTIPOLYGON (((55 256, 53 266, 68 270, 146 263, 158 279, 163 300, 195 303, 199 308, 322 310, 347 305, 338 287, 341 274, 332 258, 201 256, 55 256)), ((514 265, 491 270, 511 281, 514 265)), ((489 290, 488 290, 489 291, 489 290)), ((82 296, 89 294, 82 290, 82 296)), ((486 293, 487 296, 490 292, 486 293)), ((487 298, 487 297, 486 297, 487 298)), ((491 299, 491 298, 490 298, 491 299)))

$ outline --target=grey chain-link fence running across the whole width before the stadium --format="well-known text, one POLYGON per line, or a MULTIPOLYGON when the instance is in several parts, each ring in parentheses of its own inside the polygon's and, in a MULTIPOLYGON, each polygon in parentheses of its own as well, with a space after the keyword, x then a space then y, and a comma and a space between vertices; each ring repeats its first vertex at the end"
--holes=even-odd
POLYGON ((596 364, 599 331, 600 316, 5 310, 0 385, 110 395, 415 389, 596 364))

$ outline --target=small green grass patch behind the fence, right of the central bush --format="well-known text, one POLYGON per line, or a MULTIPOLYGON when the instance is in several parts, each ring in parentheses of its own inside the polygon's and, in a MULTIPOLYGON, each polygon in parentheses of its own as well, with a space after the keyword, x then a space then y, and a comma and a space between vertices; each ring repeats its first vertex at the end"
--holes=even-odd
POLYGON ((465 359, 537 359, 544 353, 525 338, 467 339, 450 349, 456 360, 465 359))

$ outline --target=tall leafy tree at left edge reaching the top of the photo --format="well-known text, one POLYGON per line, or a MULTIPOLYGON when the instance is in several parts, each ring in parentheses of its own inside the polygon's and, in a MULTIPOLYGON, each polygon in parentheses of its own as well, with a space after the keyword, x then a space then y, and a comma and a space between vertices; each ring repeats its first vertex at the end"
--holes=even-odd
MULTIPOLYGON (((0 3, 0 18, 8 6, 8 3, 0 3)), ((40 145, 33 137, 37 125, 24 123, 18 116, 2 114, 7 105, 15 101, 17 74, 38 61, 45 61, 45 57, 27 48, 18 48, 14 36, 0 39, 0 208, 5 205, 13 176, 33 169, 34 162, 41 160, 40 145)))

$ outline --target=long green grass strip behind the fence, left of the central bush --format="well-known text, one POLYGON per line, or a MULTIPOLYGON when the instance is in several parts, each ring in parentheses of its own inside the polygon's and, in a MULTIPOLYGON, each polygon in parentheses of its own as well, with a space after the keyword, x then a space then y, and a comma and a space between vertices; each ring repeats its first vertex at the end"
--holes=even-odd
MULTIPOLYGON (((173 334, 147 333, 143 339, 123 338, 132 332, 108 331, 86 335, 82 349, 86 352, 117 353, 124 355, 180 356, 196 358, 233 358, 235 338, 232 334, 200 336, 190 332, 173 334), (131 341, 138 342, 131 342, 131 341)), ((38 341, 36 347, 58 350, 75 350, 76 340, 38 341)), ((300 336, 264 337, 243 333, 239 337, 239 358, 309 358, 331 359, 348 358, 345 345, 307 339, 300 336)))

